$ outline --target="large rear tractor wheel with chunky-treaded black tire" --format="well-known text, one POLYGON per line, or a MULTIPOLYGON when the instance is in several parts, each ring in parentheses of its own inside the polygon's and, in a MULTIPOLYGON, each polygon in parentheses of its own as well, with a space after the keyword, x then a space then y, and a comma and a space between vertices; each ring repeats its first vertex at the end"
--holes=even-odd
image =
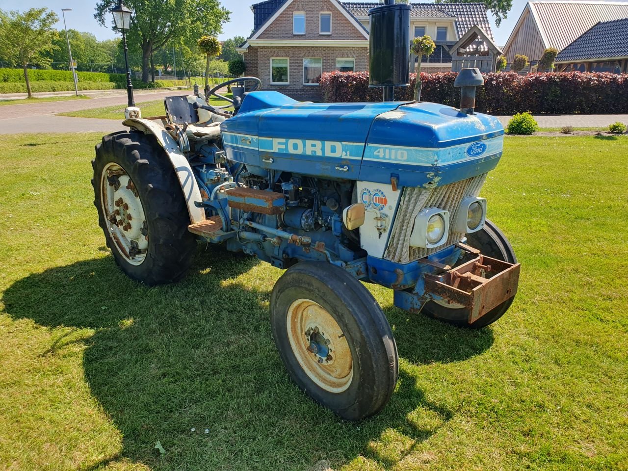
POLYGON ((95 150, 94 205, 116 263, 149 286, 183 278, 197 244, 164 149, 152 135, 120 131, 104 136, 95 150))

